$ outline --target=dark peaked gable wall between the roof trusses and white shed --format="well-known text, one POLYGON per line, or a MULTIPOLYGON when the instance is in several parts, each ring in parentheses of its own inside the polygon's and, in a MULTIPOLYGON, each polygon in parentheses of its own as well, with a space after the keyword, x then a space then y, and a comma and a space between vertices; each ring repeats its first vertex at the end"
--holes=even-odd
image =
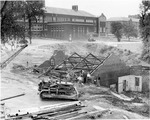
POLYGON ((124 75, 130 75, 130 68, 115 54, 106 59, 92 74, 99 80, 101 86, 110 87, 115 84, 116 88, 118 88, 118 77, 124 75))

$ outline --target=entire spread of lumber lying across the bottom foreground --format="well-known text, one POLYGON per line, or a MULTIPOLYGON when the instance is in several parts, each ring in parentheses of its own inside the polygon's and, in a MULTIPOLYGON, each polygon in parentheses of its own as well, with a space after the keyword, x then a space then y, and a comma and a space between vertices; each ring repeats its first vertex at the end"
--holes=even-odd
POLYGON ((96 110, 87 111, 80 101, 55 104, 30 108, 28 110, 19 110, 18 113, 9 114, 7 120, 78 120, 86 118, 97 118, 108 112, 107 109, 94 106, 96 110))

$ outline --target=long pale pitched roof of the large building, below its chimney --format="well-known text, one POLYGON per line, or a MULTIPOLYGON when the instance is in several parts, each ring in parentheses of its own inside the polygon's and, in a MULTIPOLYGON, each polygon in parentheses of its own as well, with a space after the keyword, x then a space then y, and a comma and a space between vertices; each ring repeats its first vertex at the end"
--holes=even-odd
POLYGON ((88 12, 82 10, 72 10, 64 8, 55 8, 55 7, 46 7, 46 13, 51 14, 63 14, 63 15, 72 15, 72 16, 83 16, 83 17, 96 17, 88 12))

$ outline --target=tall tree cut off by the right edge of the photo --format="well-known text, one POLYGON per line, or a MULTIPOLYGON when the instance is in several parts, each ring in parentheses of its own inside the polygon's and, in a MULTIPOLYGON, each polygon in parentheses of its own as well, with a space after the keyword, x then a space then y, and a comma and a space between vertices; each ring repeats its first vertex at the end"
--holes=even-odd
POLYGON ((142 59, 150 63, 150 1, 144 0, 140 6, 140 31, 143 38, 142 59))

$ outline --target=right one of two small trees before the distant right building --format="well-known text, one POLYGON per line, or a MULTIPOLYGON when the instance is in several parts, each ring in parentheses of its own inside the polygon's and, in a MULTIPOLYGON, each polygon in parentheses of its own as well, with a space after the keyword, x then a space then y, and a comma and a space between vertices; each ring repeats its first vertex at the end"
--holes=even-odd
POLYGON ((130 41, 130 37, 137 37, 138 36, 137 32, 138 31, 132 22, 123 24, 123 33, 128 38, 129 41, 130 41))

